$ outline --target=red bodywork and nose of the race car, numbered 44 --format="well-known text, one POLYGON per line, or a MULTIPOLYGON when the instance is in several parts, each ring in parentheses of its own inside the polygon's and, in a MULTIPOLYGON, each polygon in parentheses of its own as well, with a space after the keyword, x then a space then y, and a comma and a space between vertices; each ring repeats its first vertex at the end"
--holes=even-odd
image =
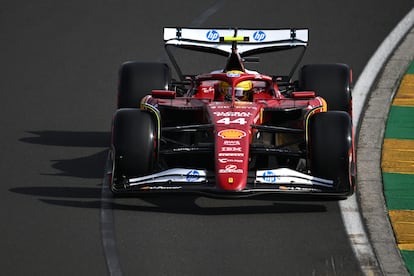
MULTIPOLYGON (((291 97, 283 96, 277 83, 269 76, 261 74, 227 73, 201 75, 196 78, 197 93, 192 97, 176 97, 175 91, 155 90, 143 100, 146 105, 157 108, 174 107, 192 109, 203 106, 208 114, 207 121, 214 125, 215 135, 215 182, 217 189, 223 191, 242 191, 248 184, 249 150, 257 129, 253 125, 263 125, 270 118, 265 110, 302 109, 308 118, 315 112, 326 111, 326 102, 316 97, 312 91, 296 91, 291 97), (235 93, 225 101, 217 92, 217 84, 229 83, 232 91, 244 81, 264 82, 265 89, 252 95, 252 101, 237 101, 235 93), (210 85, 206 86, 205 83, 210 85), (170 99, 165 99, 170 98, 170 99)), ((263 85, 261 85, 263 87, 263 85)), ((253 85, 254 87, 254 85, 253 85)), ((287 127, 306 131, 306 120, 290 122, 287 127)))

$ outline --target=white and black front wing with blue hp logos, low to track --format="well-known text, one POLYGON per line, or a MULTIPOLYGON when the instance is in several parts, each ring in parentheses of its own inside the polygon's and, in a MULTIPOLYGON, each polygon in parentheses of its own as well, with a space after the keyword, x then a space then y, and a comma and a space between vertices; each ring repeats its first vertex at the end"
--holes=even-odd
MULTIPOLYGON (((108 175, 111 174, 112 169, 109 169, 108 175)), ((122 183, 111 183, 111 190, 114 194, 190 192, 213 197, 246 197, 272 193, 346 196, 335 190, 333 180, 288 168, 250 172, 248 184, 239 191, 219 189, 214 185, 214 180, 215 175, 204 169, 173 168, 142 177, 123 179, 122 183)))

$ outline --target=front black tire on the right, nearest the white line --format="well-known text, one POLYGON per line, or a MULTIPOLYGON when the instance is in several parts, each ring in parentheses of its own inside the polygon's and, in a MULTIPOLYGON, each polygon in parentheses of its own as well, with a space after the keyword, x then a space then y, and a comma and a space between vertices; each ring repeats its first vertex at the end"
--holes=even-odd
POLYGON ((313 176, 334 180, 335 192, 354 192, 352 121, 347 112, 328 111, 310 118, 309 159, 313 176))

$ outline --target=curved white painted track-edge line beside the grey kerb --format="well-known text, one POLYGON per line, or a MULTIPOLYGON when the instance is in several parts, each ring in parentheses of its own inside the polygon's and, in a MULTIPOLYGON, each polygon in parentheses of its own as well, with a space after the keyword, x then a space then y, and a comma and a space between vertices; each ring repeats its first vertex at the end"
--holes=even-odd
MULTIPOLYGON (((412 9, 385 38, 358 78, 353 90, 352 100, 356 130, 359 129, 365 102, 378 74, 397 47, 398 43, 413 25, 414 9, 412 9)), ((376 271, 378 271, 378 267, 375 267, 377 265, 377 260, 362 223, 356 196, 353 195, 347 200, 340 201, 339 206, 346 231, 363 272, 366 275, 375 275, 376 271)))

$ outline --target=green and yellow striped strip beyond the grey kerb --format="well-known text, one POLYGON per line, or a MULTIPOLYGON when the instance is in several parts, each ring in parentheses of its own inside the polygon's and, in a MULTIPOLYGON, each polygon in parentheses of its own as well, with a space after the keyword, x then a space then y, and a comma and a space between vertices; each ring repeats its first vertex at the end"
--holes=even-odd
POLYGON ((409 272, 414 269, 414 62, 393 99, 382 146, 382 178, 395 241, 409 272))

